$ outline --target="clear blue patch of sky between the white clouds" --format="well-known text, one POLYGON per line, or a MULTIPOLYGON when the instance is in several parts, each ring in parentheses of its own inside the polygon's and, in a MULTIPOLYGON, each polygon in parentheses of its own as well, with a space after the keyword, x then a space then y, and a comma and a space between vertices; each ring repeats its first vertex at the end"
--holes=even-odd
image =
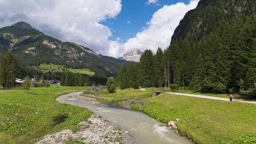
POLYGON ((164 5, 176 4, 178 2, 189 3, 189 0, 158 0, 155 4, 148 4, 148 0, 122 0, 121 12, 112 19, 101 21, 100 24, 108 26, 112 32, 109 40, 128 40, 137 32, 147 27, 152 15, 164 5))

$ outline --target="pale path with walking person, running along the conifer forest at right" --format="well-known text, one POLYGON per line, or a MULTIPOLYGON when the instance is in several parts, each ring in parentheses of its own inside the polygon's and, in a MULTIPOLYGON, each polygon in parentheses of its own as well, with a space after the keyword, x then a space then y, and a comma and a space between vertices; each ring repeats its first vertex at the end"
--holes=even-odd
MULTIPOLYGON (((177 93, 177 92, 166 92, 166 93, 174 94, 174 95, 180 95, 180 96, 199 97, 199 98, 211 99, 211 100, 224 100, 224 101, 229 101, 229 99, 227 99, 227 98, 214 97, 214 96, 192 95, 192 94, 177 93)), ((242 102, 242 103, 256 104, 256 101, 234 100, 234 99, 233 99, 233 101, 242 102)))

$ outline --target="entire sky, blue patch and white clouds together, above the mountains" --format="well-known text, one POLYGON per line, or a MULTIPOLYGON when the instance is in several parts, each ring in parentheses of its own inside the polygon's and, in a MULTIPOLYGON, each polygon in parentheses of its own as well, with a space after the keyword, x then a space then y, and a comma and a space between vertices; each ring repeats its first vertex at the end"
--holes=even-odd
POLYGON ((165 49, 199 0, 0 0, 0 27, 20 20, 98 54, 165 49))

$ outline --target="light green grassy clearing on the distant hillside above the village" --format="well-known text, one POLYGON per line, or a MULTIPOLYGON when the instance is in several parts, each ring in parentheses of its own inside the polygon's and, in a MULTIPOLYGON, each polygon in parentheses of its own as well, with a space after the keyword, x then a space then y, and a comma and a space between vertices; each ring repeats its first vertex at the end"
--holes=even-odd
POLYGON ((56 65, 56 64, 40 64, 38 66, 40 70, 44 73, 47 72, 63 72, 62 69, 67 69, 70 72, 73 73, 82 73, 82 74, 87 74, 89 76, 93 76, 95 73, 90 71, 88 68, 83 68, 83 69, 73 69, 73 68, 64 68, 62 65, 56 65))

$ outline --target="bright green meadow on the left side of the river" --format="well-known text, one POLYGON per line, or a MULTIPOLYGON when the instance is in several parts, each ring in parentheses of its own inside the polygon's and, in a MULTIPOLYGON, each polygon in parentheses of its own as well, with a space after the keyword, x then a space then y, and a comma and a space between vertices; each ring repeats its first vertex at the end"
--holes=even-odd
POLYGON ((76 131, 91 116, 86 108, 57 102, 56 97, 81 87, 0 90, 0 143, 35 143, 63 129, 76 131))

